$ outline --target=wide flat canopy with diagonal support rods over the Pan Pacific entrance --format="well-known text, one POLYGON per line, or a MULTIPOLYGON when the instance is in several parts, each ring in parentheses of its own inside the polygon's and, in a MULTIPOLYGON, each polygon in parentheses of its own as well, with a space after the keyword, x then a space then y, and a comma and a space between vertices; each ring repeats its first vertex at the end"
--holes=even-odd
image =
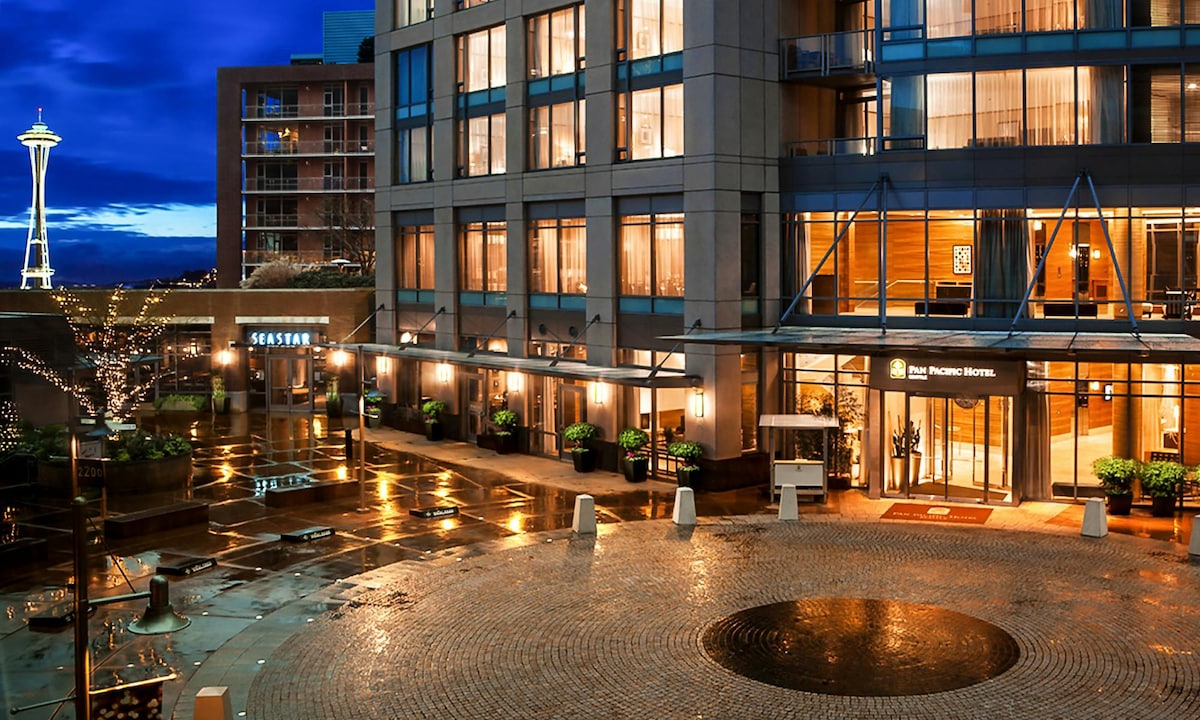
POLYGON ((785 326, 774 332, 761 330, 730 330, 674 335, 665 340, 680 340, 701 344, 737 344, 786 348, 827 353, 1001 353, 1015 358, 1044 359, 1046 356, 1153 356, 1156 360, 1200 362, 1200 340, 1186 334, 1165 332, 1049 332, 997 330, 925 330, 880 328, 812 328, 785 326))

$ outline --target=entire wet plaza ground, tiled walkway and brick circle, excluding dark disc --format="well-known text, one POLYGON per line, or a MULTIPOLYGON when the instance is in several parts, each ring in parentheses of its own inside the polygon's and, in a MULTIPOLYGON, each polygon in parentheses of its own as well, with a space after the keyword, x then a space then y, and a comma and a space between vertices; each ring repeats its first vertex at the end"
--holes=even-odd
MULTIPOLYGON (((1190 515, 1138 515, 1124 528, 1110 521, 1114 533, 1128 535, 1097 541, 1079 538, 1079 506, 1026 503, 997 508, 982 528, 948 528, 881 522, 890 502, 847 491, 826 505, 803 505, 800 523, 778 523, 763 493, 750 490, 697 494, 701 526, 680 529, 666 521, 672 485, 630 486, 612 473, 578 475, 564 462, 386 430, 367 432, 360 497, 270 508, 272 488, 358 479, 338 421, 160 418, 203 445, 190 497, 209 503, 210 524, 114 544, 112 556, 94 538, 92 596, 128 592, 122 572, 144 589, 172 559, 215 557, 217 566, 172 580, 172 600, 192 618, 186 631, 132 636, 126 628, 137 604, 102 606, 89 628, 94 686, 174 672, 164 695, 179 720, 191 718, 191 698, 205 685, 230 686, 235 710, 251 718, 762 718, 774 707, 787 716, 805 707, 810 716, 1002 718, 1021 716, 997 708, 1018 707, 1012 696, 1037 685, 1031 672, 1069 678, 1078 694, 1074 709, 1040 716, 1200 715, 1200 593, 1196 566, 1186 559, 1190 515), (580 492, 596 498, 595 539, 569 532, 580 492), (451 504, 460 508, 455 517, 409 514, 451 504), (628 522, 638 520, 652 522, 628 522), (335 534, 280 539, 323 526, 335 534), (1114 557, 1120 563, 1106 565, 1114 557), (768 572, 749 571, 768 560, 768 572), (1008 672, 953 691, 922 684, 932 665, 886 670, 895 676, 889 682, 911 676, 910 690, 926 695, 868 707, 859 696, 886 694, 859 688, 851 700, 826 696, 833 702, 826 706, 816 694, 730 672, 719 653, 704 649, 706 629, 721 618, 812 598, 943 608, 1012 634, 1020 656, 1008 672), (1105 629, 1108 618, 1140 630, 1123 636, 1105 629), (1134 679, 1110 683, 1117 670, 1134 679), (1006 685, 1014 676, 1021 680, 1006 685), (989 688, 1003 691, 980 695, 989 688), (1114 688, 1127 692, 1110 697, 1114 688), (671 697, 670 708, 647 689, 671 697), (744 702, 714 697, 725 695, 720 689, 737 689, 744 702), (637 704, 638 697, 650 704, 637 704), (984 702, 956 714, 968 706, 953 698, 984 702)), ((186 497, 112 498, 109 506, 128 511, 186 497)), ((53 524, 60 515, 38 520, 53 524)), ((68 604, 70 575, 61 550, 36 574, 5 570, 5 707, 71 690, 71 632, 24 626, 68 604)), ((845 620, 833 623, 841 630, 854 617, 829 614, 845 620)), ((949 628, 953 634, 954 623, 949 628)), ((859 642, 886 646, 898 637, 859 642)), ((935 653, 923 655, 932 662, 935 653)), ((1038 692, 1052 701, 1049 690, 1038 692)), ((58 716, 71 715, 65 708, 58 716)), ((18 716, 54 715, 47 708, 18 716)))

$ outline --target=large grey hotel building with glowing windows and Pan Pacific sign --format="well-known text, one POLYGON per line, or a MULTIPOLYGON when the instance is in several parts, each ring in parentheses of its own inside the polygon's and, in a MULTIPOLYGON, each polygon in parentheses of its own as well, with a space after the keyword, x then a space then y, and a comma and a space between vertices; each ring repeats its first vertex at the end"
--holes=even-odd
POLYGON ((1200 462, 1196 0, 377 7, 390 421, 768 448, 872 497, 1200 462), (836 419, 820 432, 764 415, 836 419), (1190 432, 1192 434, 1188 434, 1190 432), (778 437, 776 437, 778 436, 778 437))

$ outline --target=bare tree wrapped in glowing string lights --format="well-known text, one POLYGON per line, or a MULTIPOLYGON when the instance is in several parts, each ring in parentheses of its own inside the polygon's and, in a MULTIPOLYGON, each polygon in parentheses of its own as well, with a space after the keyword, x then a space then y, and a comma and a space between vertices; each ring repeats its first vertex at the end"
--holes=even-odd
POLYGON ((114 289, 103 305, 90 305, 70 290, 54 290, 52 296, 74 338, 76 364, 84 368, 86 378, 64 377, 46 360, 23 348, 0 348, 0 362, 55 385, 86 415, 125 421, 146 391, 169 374, 169 371, 150 372, 149 376, 136 372, 160 350, 167 325, 156 307, 166 295, 166 292, 150 290, 133 314, 122 314, 127 308, 133 310, 132 299, 126 296, 124 288, 114 289))

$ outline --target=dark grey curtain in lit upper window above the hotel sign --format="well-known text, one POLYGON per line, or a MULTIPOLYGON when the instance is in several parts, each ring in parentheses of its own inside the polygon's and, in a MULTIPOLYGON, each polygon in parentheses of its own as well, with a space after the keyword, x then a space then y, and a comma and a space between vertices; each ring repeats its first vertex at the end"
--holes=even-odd
POLYGON ((976 238, 976 317, 1012 318, 1028 287, 1033 262, 1025 210, 980 210, 976 238))

